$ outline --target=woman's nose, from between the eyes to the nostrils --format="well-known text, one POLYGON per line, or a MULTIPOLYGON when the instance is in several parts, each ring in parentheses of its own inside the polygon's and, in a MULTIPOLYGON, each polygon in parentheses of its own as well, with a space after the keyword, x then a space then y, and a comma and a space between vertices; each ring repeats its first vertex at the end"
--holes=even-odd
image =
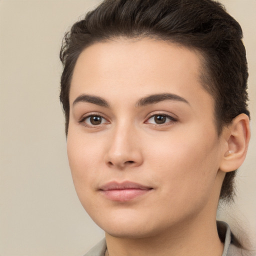
POLYGON ((116 127, 108 143, 104 160, 109 167, 124 169, 142 164, 139 136, 131 127, 116 127))

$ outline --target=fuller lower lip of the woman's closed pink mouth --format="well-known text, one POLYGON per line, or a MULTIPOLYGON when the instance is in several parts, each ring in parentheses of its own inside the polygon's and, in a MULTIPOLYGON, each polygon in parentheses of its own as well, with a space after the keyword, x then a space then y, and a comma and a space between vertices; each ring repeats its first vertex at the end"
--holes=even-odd
POLYGON ((102 190, 101 192, 113 201, 130 201, 138 196, 148 193, 151 189, 114 189, 102 190))

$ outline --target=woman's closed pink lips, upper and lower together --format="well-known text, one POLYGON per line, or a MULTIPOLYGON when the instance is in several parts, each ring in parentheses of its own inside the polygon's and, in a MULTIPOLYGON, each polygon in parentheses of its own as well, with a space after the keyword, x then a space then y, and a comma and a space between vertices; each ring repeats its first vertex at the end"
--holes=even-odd
POLYGON ((151 187, 130 181, 121 183, 113 181, 100 187, 100 191, 104 196, 113 201, 130 201, 149 192, 151 189, 151 187))

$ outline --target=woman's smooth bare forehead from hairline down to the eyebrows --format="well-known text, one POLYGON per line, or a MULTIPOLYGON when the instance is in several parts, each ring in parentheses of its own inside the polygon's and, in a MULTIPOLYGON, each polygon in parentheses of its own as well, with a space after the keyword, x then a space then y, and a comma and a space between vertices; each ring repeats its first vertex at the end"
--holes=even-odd
POLYGON ((139 95, 169 92, 195 102, 212 101, 202 86, 201 59, 196 50, 159 40, 92 44, 74 67, 70 103, 81 93, 135 101, 139 95))

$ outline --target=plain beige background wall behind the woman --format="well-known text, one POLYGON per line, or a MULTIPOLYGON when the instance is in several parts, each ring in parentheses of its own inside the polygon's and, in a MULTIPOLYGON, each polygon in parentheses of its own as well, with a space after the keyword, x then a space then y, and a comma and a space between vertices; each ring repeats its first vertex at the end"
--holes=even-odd
MULTIPOLYGON (((58 102, 64 31, 98 0, 0 0, 0 255, 83 255, 103 237, 68 169, 58 102)), ((252 140, 232 222, 256 230, 256 0, 221 0, 241 23, 252 140), (240 220, 238 221, 240 223, 240 220)), ((220 215, 223 215, 220 212, 220 215)))

